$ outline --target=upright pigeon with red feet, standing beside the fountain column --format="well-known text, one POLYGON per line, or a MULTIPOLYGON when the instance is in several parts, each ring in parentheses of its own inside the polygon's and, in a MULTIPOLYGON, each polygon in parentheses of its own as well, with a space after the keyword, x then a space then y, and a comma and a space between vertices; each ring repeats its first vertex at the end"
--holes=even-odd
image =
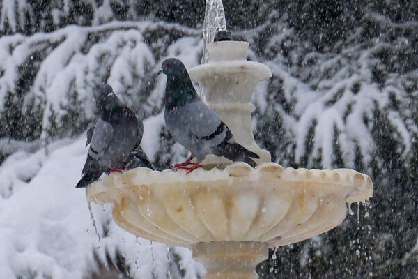
POLYGON ((208 154, 224 156, 233 162, 243 161, 256 167, 252 158, 260 157, 235 142, 228 126, 199 98, 180 60, 164 60, 160 73, 167 75, 164 108, 167 130, 176 142, 192 153, 184 163, 174 167, 192 172, 201 167, 199 162, 208 154), (192 167, 185 167, 191 164, 193 157, 197 158, 197 162, 192 167))

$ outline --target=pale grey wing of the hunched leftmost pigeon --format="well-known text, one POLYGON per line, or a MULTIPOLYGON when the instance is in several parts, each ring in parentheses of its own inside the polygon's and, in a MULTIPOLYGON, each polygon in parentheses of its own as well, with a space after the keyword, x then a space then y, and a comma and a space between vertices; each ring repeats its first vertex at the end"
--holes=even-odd
POLYGON ((82 174, 86 173, 95 160, 103 156, 104 152, 109 147, 111 140, 114 138, 114 129, 111 124, 99 119, 91 136, 91 144, 88 149, 88 156, 86 164, 82 170, 82 174))

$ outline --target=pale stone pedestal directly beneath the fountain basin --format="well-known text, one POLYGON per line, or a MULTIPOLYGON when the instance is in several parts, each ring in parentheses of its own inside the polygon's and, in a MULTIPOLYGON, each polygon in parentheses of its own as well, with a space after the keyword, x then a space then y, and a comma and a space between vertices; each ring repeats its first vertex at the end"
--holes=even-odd
POLYGON ((205 279, 256 279, 257 264, 268 259, 268 243, 256 241, 201 242, 192 251, 208 270, 205 279))

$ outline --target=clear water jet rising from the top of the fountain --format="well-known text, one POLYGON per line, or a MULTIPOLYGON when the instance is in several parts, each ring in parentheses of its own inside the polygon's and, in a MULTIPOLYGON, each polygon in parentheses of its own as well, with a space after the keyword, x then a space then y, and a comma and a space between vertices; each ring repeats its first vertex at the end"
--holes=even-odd
POLYGON ((203 20, 203 55, 201 63, 208 62, 206 45, 212 43, 217 31, 226 30, 225 12, 222 0, 206 0, 205 20, 203 20))

